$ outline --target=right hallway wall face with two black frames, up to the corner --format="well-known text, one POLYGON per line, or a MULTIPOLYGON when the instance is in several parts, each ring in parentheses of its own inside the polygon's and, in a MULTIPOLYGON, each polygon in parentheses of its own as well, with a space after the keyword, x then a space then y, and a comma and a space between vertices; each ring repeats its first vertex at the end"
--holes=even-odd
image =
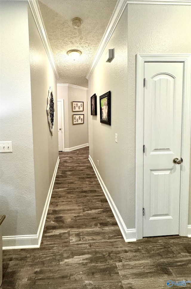
POLYGON ((90 97, 97 94, 97 116, 89 115, 90 156, 128 229, 135 228, 134 139, 127 86, 127 8, 89 79, 90 97), (108 49, 115 58, 105 62, 108 49), (111 126, 100 123, 99 96, 111 91, 111 126), (128 131, 130 129, 130 131, 128 131), (115 133, 118 143, 115 143, 115 133), (99 160, 99 166, 97 166, 99 160))

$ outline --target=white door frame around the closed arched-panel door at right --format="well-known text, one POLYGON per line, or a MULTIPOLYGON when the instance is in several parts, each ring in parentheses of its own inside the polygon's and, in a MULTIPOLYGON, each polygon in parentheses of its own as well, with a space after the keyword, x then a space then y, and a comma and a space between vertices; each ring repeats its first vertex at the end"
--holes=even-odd
POLYGON ((188 235, 191 122, 191 54, 136 55, 136 239, 143 238, 143 133, 144 133, 144 62, 183 62, 183 107, 181 143, 181 182, 179 235, 188 235))

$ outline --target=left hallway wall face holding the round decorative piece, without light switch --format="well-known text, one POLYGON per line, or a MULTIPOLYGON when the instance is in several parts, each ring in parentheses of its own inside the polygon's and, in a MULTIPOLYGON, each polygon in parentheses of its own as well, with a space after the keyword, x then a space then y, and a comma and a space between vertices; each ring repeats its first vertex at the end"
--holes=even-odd
POLYGON ((28 15, 36 216, 38 227, 58 159, 57 85, 56 77, 30 8, 28 8, 28 15), (53 136, 50 133, 46 111, 50 86, 52 86, 56 110, 53 136))

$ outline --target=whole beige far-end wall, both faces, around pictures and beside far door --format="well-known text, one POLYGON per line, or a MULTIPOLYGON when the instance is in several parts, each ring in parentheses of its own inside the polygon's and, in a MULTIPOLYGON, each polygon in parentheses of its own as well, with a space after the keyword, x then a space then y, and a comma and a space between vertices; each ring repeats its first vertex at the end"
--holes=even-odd
POLYGON ((88 119, 87 119, 87 90, 82 88, 62 86, 58 84, 58 99, 64 99, 64 139, 65 149, 88 143, 88 119), (83 101, 84 124, 73 125, 72 102, 83 101), (67 146, 68 145, 68 146, 67 146))

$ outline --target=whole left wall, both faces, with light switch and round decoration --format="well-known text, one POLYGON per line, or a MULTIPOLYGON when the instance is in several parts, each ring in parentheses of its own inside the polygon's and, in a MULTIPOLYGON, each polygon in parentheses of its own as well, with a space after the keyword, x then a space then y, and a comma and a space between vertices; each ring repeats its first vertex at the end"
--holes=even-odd
POLYGON ((13 152, 0 154, 3 247, 38 247, 58 160, 56 77, 27 1, 0 1, 0 27, 0 140, 13 141, 13 152), (46 111, 50 85, 53 137, 46 111))

